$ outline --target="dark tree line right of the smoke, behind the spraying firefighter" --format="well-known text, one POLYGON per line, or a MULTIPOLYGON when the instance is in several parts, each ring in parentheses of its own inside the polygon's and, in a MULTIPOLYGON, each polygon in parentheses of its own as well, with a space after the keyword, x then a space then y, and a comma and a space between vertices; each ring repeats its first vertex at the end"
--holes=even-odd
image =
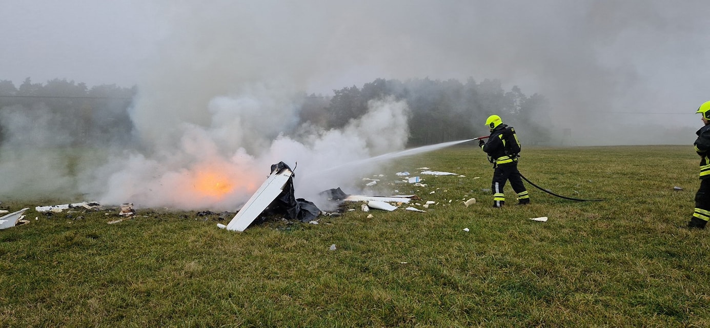
POLYGON ((506 91, 500 80, 477 83, 469 78, 458 80, 377 79, 361 88, 352 86, 333 90, 334 96, 324 102, 311 94, 302 110, 302 121, 312 121, 325 128, 339 128, 367 111, 371 99, 395 97, 410 107, 409 146, 423 146, 457 141, 488 134, 486 118, 491 114, 503 117, 503 122, 515 126, 526 135, 530 144, 549 143, 550 126, 535 122, 550 122, 549 104, 541 94, 526 96, 519 87, 506 91))

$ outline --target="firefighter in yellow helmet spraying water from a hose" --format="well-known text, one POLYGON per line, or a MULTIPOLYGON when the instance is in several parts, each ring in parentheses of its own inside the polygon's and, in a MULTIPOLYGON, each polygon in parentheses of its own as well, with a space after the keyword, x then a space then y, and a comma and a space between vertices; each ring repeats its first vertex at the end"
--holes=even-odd
POLYGON ((491 136, 488 137, 488 142, 480 140, 479 146, 488 153, 488 160, 493 163, 493 182, 491 183, 493 207, 502 207, 503 204, 506 204, 503 187, 505 187, 507 180, 510 180, 510 185, 518 194, 518 205, 530 204, 528 190, 525 189, 518 171, 520 141, 515 134, 515 129, 503 124, 501 116, 498 115, 488 116, 486 126, 491 129, 491 136))

